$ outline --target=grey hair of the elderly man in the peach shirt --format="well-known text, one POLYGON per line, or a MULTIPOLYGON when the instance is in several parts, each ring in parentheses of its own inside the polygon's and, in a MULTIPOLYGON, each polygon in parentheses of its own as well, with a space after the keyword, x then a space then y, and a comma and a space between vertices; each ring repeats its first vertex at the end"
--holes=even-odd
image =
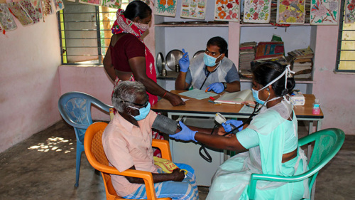
POLYGON ((129 102, 136 102, 138 96, 146 95, 146 88, 138 81, 120 81, 114 87, 114 94, 112 95, 112 105, 118 112, 124 112, 124 108, 133 104, 129 102), (129 101, 129 102, 124 102, 129 101))

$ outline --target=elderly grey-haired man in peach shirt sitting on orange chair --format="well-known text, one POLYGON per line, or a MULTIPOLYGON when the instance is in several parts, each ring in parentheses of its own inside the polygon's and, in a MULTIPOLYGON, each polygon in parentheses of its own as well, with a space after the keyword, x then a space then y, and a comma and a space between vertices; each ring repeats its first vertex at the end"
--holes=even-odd
MULTIPOLYGON (((104 152, 111 166, 119 172, 137 169, 153 174, 158 198, 198 199, 193 169, 186 164, 176 164, 187 169, 187 174, 175 169, 165 174, 154 164, 151 129, 157 114, 151 110, 146 88, 138 81, 121 81, 114 88, 112 103, 118 111, 102 135, 104 152)), ((116 193, 125 199, 146 198, 143 179, 111 175, 116 193)))

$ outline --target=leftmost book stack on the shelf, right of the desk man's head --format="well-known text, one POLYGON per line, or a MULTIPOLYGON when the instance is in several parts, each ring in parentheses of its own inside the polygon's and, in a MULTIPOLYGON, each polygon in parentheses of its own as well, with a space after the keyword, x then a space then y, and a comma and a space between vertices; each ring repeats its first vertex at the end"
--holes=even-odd
POLYGON ((251 74, 251 62, 255 58, 256 42, 246 42, 239 45, 239 73, 251 74))

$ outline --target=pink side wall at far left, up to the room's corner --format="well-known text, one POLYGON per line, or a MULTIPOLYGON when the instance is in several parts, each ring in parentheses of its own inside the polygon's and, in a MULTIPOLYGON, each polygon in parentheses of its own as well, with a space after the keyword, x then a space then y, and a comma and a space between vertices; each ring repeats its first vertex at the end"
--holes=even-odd
POLYGON ((0 34, 0 152, 60 120, 56 15, 0 34))

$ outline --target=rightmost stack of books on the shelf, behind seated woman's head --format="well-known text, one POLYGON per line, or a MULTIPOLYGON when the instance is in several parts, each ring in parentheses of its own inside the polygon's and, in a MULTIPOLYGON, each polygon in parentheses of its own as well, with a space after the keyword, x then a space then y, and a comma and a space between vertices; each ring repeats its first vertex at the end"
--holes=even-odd
POLYGON ((310 47, 288 52, 288 56, 293 60, 295 78, 312 78, 314 53, 310 47))

